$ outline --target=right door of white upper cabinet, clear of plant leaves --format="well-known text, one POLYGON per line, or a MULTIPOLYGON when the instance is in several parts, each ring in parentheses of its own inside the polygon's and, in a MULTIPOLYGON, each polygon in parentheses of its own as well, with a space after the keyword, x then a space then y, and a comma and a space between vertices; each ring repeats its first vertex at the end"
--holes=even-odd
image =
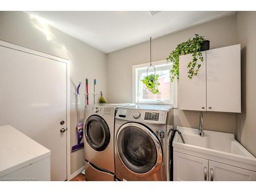
POLYGON ((240 45, 206 51, 207 111, 241 112, 240 45))

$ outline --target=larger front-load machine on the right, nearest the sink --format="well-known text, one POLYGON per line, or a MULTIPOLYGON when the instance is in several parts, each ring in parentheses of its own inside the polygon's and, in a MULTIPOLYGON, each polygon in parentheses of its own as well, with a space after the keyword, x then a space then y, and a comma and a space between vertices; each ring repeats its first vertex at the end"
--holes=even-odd
POLYGON ((168 181, 173 107, 123 106, 115 122, 115 173, 123 181, 168 181))

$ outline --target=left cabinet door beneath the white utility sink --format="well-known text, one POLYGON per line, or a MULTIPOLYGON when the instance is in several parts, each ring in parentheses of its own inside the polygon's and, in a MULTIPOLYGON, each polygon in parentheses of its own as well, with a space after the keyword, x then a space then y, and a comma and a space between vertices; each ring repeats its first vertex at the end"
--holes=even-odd
POLYGON ((174 181, 207 181, 208 160, 174 152, 174 181))

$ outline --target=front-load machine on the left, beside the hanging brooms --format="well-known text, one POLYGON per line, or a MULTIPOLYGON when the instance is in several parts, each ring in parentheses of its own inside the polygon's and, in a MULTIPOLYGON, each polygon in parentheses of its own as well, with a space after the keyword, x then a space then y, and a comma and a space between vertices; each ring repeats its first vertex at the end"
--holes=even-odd
POLYGON ((84 167, 88 181, 114 181, 114 124, 120 106, 130 104, 87 105, 84 110, 84 167))

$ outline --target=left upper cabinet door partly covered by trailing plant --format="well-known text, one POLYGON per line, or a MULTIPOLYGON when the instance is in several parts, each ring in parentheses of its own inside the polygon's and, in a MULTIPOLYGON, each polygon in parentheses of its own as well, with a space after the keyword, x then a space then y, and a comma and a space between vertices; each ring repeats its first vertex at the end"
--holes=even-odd
POLYGON ((192 54, 182 55, 179 60, 179 109, 206 111, 206 52, 203 51, 204 61, 198 75, 188 78, 187 65, 193 60, 192 54))

